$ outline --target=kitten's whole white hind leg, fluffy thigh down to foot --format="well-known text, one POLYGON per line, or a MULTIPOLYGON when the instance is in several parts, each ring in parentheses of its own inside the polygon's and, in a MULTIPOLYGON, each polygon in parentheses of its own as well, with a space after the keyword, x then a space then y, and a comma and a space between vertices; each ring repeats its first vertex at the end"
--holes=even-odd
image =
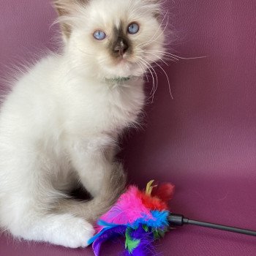
MULTIPOLYGON (((4 151, 1 153, 4 155, 4 151)), ((72 248, 87 246, 94 228, 81 217, 51 211, 65 195, 52 187, 50 171, 45 171, 38 161, 32 163, 26 154, 20 159, 2 158, 0 162, 1 227, 30 241, 72 248)))

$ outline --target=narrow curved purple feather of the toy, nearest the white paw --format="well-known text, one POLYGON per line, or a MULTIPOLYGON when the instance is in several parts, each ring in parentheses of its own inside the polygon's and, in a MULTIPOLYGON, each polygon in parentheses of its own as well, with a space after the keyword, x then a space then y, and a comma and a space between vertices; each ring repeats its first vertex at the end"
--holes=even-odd
POLYGON ((127 230, 127 226, 124 226, 124 225, 112 227, 108 230, 105 230, 105 232, 102 233, 102 236, 99 236, 99 238, 97 238, 94 241, 94 244, 92 244, 92 248, 94 249, 94 254, 96 256, 99 256, 100 248, 105 241, 108 241, 112 238, 116 238, 118 236, 124 236, 124 233, 126 230, 127 230))

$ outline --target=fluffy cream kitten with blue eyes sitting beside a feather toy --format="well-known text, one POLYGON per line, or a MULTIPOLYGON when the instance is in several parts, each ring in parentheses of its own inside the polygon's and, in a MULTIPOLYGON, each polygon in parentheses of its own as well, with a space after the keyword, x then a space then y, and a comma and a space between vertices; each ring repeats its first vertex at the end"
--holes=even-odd
POLYGON ((0 114, 0 223, 13 236, 87 246, 125 187, 115 146, 143 109, 164 50, 157 0, 58 0, 64 50, 29 69, 0 114), (147 63, 147 64, 146 64, 147 63), (79 184, 93 197, 68 197, 79 184))

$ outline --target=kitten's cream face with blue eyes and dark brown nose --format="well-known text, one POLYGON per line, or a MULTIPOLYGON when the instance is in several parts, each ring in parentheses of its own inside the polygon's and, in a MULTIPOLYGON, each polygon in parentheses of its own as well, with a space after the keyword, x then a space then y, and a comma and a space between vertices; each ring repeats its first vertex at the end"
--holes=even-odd
POLYGON ((98 78, 138 76, 162 56, 159 1, 81 1, 84 6, 70 6, 75 8, 65 27, 67 49, 78 69, 98 78))

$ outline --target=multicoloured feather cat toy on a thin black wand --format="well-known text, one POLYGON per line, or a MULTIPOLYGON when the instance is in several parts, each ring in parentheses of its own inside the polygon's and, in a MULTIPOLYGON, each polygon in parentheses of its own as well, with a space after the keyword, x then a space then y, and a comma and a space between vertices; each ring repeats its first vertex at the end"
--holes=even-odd
POLYGON ((135 186, 128 187, 117 203, 99 218, 97 234, 89 240, 94 255, 100 255, 105 241, 118 236, 125 238, 125 252, 122 255, 156 255, 154 241, 164 237, 171 227, 186 224, 256 236, 256 231, 199 222, 171 213, 168 203, 173 197, 174 185, 166 183, 158 187, 153 184, 154 181, 148 182, 145 191, 135 186))

